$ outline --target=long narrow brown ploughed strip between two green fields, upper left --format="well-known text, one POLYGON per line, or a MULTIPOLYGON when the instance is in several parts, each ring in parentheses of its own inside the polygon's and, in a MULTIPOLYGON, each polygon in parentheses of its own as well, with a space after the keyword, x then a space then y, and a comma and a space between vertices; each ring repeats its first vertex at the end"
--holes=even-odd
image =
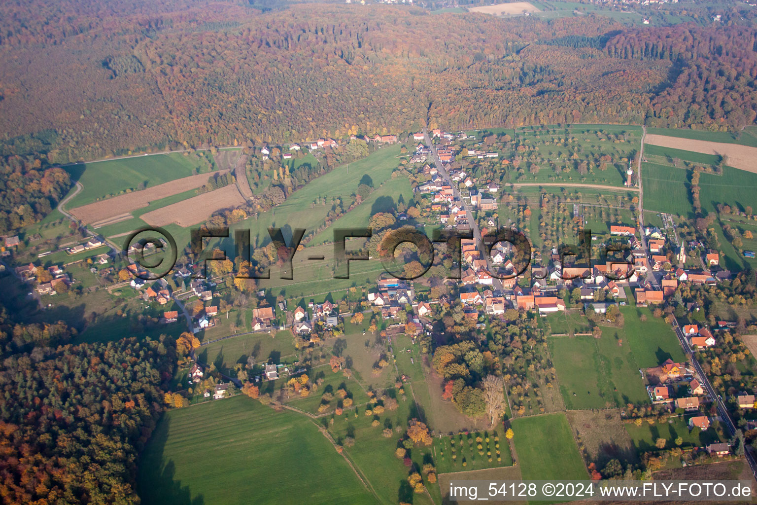
MULTIPOLYGON (((228 170, 218 170, 215 173, 226 172, 228 170)), ((126 193, 125 195, 118 195, 113 198, 107 198, 107 200, 95 201, 92 204, 76 207, 70 210, 70 213, 83 221, 83 223, 89 224, 106 221, 112 217, 132 212, 132 210, 147 207, 151 201, 199 188, 207 182, 209 176, 209 173, 201 173, 196 176, 182 177, 181 179, 164 182, 148 189, 142 189, 142 191, 126 193)))

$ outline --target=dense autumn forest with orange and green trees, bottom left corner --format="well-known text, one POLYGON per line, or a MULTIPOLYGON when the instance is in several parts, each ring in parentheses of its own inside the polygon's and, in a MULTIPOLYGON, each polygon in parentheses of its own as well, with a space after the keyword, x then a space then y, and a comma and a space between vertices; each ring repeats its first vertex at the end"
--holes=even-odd
POLYGON ((164 409, 173 341, 72 345, 71 333, 0 307, 2 503, 139 503, 136 461, 164 409))

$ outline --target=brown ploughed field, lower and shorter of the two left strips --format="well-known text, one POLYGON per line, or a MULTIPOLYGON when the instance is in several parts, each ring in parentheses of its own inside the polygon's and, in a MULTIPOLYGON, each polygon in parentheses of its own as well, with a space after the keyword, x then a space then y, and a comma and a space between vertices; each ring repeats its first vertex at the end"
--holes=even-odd
POLYGON ((245 204, 246 200, 239 193, 235 184, 224 186, 215 191, 203 193, 188 200, 179 201, 166 207, 142 214, 142 220, 152 226, 166 226, 176 223, 187 227, 207 220, 216 210, 234 208, 245 204))

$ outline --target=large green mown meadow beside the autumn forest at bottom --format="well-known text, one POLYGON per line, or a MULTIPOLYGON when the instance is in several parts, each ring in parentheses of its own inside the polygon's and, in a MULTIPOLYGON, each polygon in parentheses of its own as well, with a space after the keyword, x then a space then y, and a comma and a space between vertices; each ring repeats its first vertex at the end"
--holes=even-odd
POLYGON ((380 503, 313 421, 243 395, 164 414, 137 488, 145 505, 380 503))

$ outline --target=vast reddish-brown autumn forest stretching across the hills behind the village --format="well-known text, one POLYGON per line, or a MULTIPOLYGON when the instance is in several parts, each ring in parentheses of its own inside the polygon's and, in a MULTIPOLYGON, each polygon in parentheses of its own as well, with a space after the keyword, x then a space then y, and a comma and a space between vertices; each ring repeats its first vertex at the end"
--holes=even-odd
POLYGON ((6 2, 0 154, 66 162, 427 121, 739 129, 757 110, 747 22, 637 29, 594 14, 410 6, 307 3, 282 14, 202 0, 6 2))

